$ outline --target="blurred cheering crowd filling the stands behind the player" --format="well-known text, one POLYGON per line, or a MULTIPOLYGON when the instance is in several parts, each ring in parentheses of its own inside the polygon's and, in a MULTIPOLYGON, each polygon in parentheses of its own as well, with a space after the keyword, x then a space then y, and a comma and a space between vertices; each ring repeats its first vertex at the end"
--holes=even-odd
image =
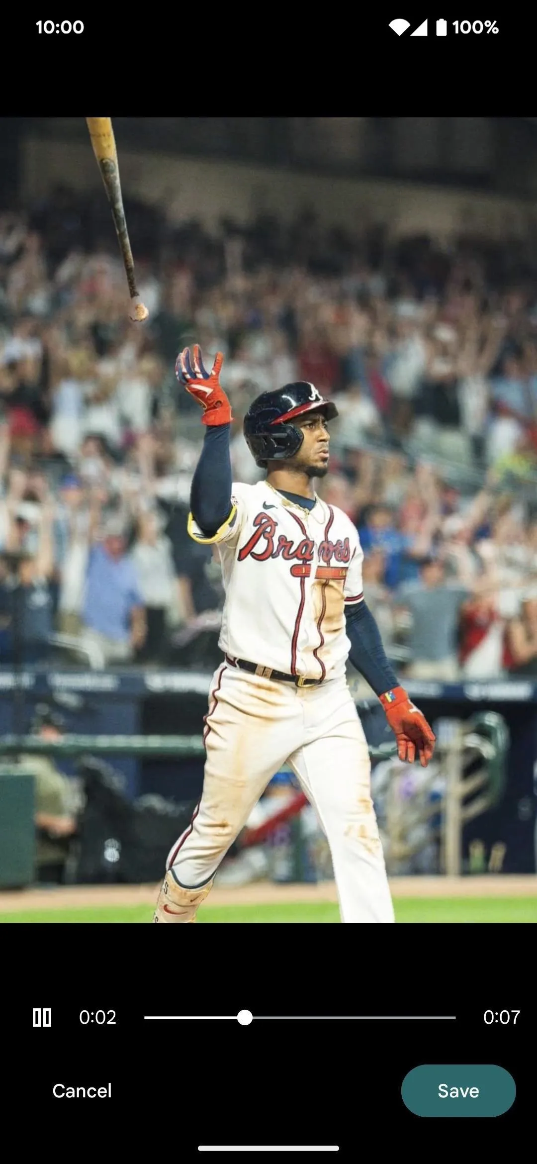
POLYGON ((335 399, 317 491, 359 530, 401 674, 537 674, 523 247, 351 236, 307 208, 212 232, 126 211, 143 326, 101 190, 0 213, 0 663, 46 662, 56 637, 93 665, 165 665, 174 633, 217 619, 217 563, 186 531, 203 430, 173 372, 199 342, 225 356, 236 480, 262 475, 242 435, 258 392, 307 379, 335 399))

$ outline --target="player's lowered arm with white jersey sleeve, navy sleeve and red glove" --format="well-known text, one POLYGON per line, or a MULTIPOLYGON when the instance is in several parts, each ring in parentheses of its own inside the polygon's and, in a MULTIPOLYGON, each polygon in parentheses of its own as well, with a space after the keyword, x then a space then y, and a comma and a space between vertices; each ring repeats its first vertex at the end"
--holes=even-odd
POLYGON ((377 622, 365 599, 361 582, 364 552, 357 545, 345 579, 345 622, 349 659, 379 697, 398 744, 400 760, 414 764, 416 752, 427 768, 432 759, 435 734, 425 717, 399 683, 386 655, 377 622))

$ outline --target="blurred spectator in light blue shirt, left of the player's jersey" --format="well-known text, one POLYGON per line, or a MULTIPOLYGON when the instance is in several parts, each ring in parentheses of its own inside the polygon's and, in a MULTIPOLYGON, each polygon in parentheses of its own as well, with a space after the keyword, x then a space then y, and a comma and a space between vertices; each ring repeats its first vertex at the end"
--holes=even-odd
POLYGON ((128 662, 145 643, 143 595, 127 554, 127 531, 121 517, 100 519, 93 505, 91 546, 83 606, 83 643, 96 646, 105 663, 128 662))

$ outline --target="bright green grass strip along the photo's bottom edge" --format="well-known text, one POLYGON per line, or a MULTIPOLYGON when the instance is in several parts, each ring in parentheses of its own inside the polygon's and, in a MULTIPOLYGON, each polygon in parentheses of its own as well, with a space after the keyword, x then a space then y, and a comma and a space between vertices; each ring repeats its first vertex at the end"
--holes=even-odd
MULTIPOLYGON (((395 920, 402 923, 466 923, 537 922, 537 897, 401 897, 394 902, 395 920)), ((0 923, 24 922, 66 924, 143 924, 151 921, 148 906, 79 907, 77 909, 21 910, 0 914, 0 923)), ((216 923, 316 923, 339 922, 336 904, 305 902, 302 904, 257 904, 201 907, 198 921, 216 923)))

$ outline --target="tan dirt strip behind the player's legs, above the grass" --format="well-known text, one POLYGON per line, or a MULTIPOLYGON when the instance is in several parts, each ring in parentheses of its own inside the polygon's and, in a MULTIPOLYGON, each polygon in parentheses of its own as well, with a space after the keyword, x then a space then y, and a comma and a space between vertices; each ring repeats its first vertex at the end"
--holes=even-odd
MULTIPOLYGON (((401 876, 389 882, 394 897, 537 897, 537 875, 528 876, 401 876)), ((77 906, 152 906, 159 886, 60 886, 12 889, 0 893, 0 913, 23 909, 69 909, 77 906)), ((215 885, 212 906, 279 904, 280 902, 337 901, 334 881, 320 885, 274 885, 257 881, 238 888, 215 885)))

